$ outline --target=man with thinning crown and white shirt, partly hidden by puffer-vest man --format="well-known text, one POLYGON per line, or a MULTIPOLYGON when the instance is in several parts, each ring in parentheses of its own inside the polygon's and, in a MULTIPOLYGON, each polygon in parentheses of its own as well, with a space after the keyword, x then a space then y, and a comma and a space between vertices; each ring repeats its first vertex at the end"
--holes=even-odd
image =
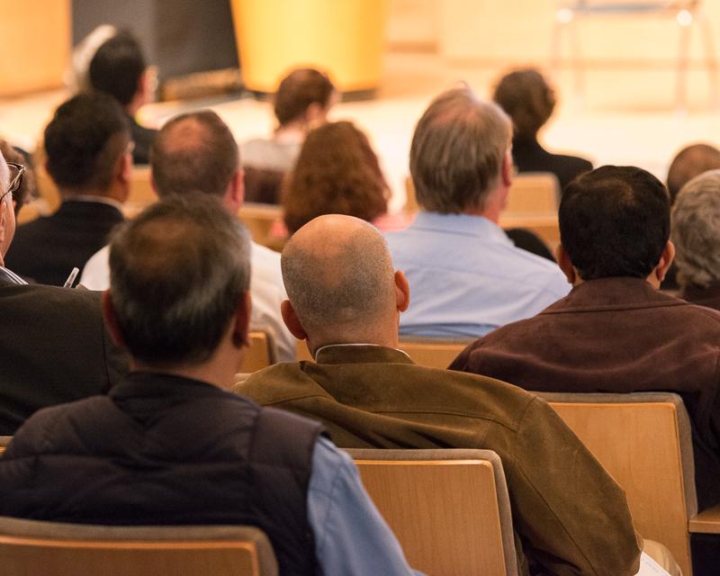
MULTIPOLYGON (((243 202, 243 173, 238 144, 228 125, 208 110, 175 116, 157 134, 150 150, 152 185, 160 198, 201 192, 222 199, 235 214, 243 202)), ((85 266, 80 283, 90 290, 110 285, 109 247, 103 247, 85 266)), ((250 243, 253 275, 251 326, 266 329, 275 338, 281 361, 295 359, 295 338, 285 328, 280 303, 285 298, 280 255, 250 243)))

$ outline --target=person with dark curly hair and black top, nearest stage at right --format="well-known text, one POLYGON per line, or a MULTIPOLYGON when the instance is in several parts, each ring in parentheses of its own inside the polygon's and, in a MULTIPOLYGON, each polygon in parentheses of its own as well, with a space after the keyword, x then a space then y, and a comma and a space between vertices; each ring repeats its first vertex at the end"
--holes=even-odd
POLYGON ((527 68, 503 76, 492 99, 512 119, 512 156, 519 172, 552 172, 563 191, 575 176, 592 170, 585 158, 552 154, 537 141, 537 132, 555 108, 554 91, 537 70, 527 68))

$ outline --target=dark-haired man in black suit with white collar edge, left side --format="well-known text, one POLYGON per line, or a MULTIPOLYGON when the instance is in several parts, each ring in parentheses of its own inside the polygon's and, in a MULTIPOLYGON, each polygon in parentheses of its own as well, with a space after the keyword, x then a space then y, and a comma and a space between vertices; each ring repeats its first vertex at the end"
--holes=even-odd
POLYGON ((78 94, 61 104, 45 129, 47 169, 62 203, 19 226, 7 262, 38 284, 65 283, 73 267, 105 245, 130 193, 130 130, 105 94, 78 94))

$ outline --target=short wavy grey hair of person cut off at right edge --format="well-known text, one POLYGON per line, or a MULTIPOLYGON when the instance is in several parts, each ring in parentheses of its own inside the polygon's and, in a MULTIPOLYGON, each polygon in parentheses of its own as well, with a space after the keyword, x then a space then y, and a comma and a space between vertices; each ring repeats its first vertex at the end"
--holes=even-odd
POLYGON ((671 238, 680 284, 707 288, 720 281, 720 170, 698 175, 680 189, 671 238))

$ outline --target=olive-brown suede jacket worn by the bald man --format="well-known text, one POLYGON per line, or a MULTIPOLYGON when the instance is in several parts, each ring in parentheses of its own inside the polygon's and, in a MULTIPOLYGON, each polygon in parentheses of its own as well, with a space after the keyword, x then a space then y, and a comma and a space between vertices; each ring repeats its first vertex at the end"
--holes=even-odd
POLYGON ((635 574, 640 551, 624 492, 545 401, 414 365, 392 348, 324 347, 317 359, 270 366, 235 392, 320 419, 344 448, 494 450, 521 574, 635 574))

